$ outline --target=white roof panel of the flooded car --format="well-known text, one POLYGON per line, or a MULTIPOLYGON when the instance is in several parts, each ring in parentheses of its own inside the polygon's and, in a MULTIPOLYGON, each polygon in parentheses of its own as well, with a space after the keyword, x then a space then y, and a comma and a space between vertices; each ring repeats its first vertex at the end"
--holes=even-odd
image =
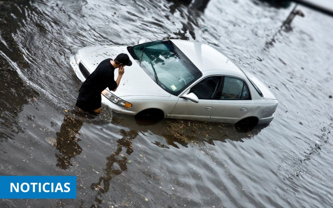
POLYGON ((202 43, 170 40, 201 71, 225 70, 244 74, 233 61, 215 48, 202 43))

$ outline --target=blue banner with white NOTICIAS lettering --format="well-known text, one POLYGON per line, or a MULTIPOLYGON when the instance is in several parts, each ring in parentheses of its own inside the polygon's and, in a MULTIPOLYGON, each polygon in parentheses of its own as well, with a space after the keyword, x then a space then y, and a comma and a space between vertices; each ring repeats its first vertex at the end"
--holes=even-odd
POLYGON ((0 176, 1 199, 74 199, 76 176, 0 176))

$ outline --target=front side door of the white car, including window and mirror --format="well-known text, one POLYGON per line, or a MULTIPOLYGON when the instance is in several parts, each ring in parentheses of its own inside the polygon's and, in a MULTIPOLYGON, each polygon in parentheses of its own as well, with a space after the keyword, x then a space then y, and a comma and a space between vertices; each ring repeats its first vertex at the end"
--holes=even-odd
POLYGON ((185 98, 179 98, 170 117, 208 120, 218 102, 214 99, 221 80, 221 76, 211 76, 196 83, 186 93, 194 93, 199 103, 185 98))

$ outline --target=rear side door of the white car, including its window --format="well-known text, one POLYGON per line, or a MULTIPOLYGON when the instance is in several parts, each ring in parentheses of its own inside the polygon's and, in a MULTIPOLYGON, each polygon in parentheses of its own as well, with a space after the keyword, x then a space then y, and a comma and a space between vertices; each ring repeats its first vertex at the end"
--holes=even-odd
POLYGON ((246 116, 253 107, 249 88, 240 78, 223 76, 215 97, 218 103, 215 104, 211 120, 234 123, 246 116))

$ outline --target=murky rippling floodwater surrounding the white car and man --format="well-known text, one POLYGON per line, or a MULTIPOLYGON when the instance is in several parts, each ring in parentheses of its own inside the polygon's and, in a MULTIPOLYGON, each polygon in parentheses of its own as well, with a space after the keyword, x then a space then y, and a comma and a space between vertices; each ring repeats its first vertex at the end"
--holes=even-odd
POLYGON ((298 6, 280 29, 294 4, 198 2, 0 2, 0 175, 77 175, 76 199, 1 207, 332 206, 333 18, 298 6), (270 87, 274 120, 238 132, 75 109, 70 55, 142 37, 217 46, 270 87))

